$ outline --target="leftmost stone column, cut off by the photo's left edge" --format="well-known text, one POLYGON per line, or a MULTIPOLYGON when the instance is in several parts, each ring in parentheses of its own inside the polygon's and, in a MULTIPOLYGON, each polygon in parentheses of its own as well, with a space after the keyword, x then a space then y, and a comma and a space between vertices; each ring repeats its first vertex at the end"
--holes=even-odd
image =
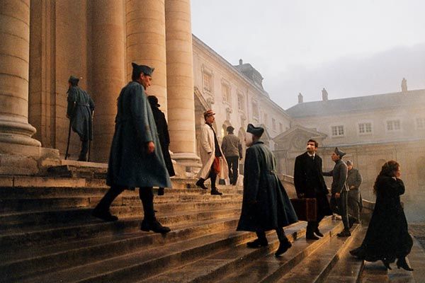
POLYGON ((30 0, 0 0, 0 153, 13 146, 40 146, 28 123, 30 0))

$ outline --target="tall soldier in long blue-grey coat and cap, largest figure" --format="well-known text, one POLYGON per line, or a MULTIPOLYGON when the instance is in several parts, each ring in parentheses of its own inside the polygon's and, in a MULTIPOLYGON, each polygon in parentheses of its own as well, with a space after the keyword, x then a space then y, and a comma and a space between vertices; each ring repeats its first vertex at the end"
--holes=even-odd
POLYGON ((132 63, 132 81, 118 97, 115 133, 111 145, 106 183, 111 189, 98 203, 93 215, 105 221, 116 221, 109 212, 115 197, 126 189, 139 187, 145 218, 140 229, 167 233, 155 218, 152 187, 171 187, 166 170, 157 127, 145 90, 151 85, 153 68, 132 63))

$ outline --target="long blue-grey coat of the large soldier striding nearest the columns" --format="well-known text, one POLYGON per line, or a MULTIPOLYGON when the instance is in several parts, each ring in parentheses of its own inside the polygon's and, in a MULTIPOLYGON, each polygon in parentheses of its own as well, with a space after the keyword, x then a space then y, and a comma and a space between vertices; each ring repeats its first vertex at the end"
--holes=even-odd
POLYGON ((128 188, 171 187, 145 89, 135 81, 118 97, 106 183, 128 188), (148 141, 155 144, 153 154, 147 154, 148 141))

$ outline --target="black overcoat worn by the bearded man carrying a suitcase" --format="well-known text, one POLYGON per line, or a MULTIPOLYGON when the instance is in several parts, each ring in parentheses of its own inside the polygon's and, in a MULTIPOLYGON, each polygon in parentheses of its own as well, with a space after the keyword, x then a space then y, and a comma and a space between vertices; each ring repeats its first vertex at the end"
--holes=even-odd
POLYGON ((294 185, 297 194, 315 198, 317 202, 317 218, 332 215, 327 194, 326 183, 322 173, 322 158, 317 154, 314 160, 305 152, 295 158, 294 185))

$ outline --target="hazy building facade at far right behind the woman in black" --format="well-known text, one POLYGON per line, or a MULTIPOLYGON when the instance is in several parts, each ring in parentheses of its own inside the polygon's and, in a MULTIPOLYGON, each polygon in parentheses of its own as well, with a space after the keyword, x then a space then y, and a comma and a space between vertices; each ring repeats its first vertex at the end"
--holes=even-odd
POLYGON ((425 187, 425 90, 306 103, 301 98, 286 112, 294 126, 274 139, 282 173, 293 175, 295 156, 312 137, 324 170, 334 165, 335 146, 346 151, 344 160, 353 160, 363 175, 366 197, 373 197, 375 178, 390 159, 401 164, 407 187, 425 187))

